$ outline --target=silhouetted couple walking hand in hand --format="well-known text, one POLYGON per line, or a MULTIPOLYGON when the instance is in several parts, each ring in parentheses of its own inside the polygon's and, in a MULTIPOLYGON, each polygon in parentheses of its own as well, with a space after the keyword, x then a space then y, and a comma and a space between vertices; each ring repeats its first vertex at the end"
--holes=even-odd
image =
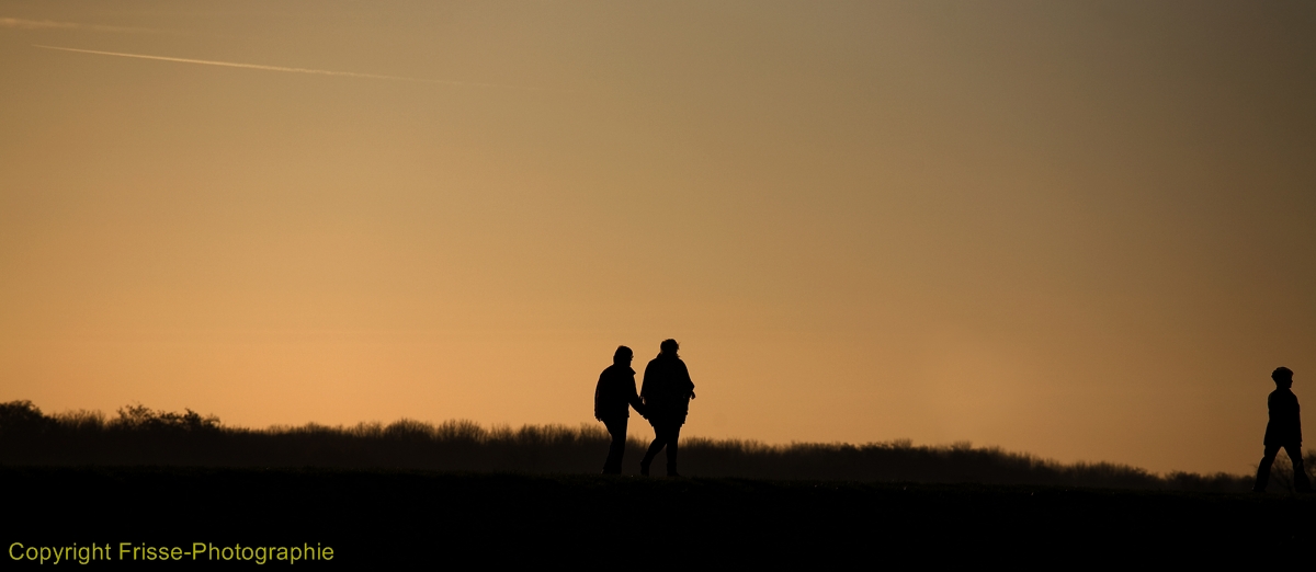
POLYGON ((594 391, 594 417, 603 421, 612 435, 608 447, 608 460, 603 463, 604 475, 621 475, 621 456, 626 452, 626 421, 630 408, 636 408, 649 425, 654 427, 654 442, 640 462, 640 473, 649 476, 649 464, 658 451, 667 450, 667 476, 676 473, 676 441, 680 439, 680 426, 686 425, 690 413, 690 400, 695 398, 695 384, 690 380, 686 362, 680 360, 675 339, 666 339, 659 346, 658 356, 645 367, 645 380, 640 393, 636 393, 636 371, 630 368, 633 354, 629 347, 620 346, 612 355, 612 366, 599 375, 599 385, 594 391))

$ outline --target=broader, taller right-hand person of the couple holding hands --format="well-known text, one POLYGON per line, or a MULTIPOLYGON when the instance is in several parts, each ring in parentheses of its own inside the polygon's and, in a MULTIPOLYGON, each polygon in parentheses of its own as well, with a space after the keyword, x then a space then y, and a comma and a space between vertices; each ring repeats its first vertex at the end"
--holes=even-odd
POLYGON ((676 473, 676 441, 680 439, 680 426, 690 413, 690 400, 695 398, 695 384, 690 380, 686 362, 676 355, 679 347, 675 339, 665 339, 658 356, 645 367, 640 397, 645 402, 645 417, 654 426, 654 442, 640 462, 640 475, 644 476, 649 476, 649 464, 665 447, 667 476, 680 476, 676 473))

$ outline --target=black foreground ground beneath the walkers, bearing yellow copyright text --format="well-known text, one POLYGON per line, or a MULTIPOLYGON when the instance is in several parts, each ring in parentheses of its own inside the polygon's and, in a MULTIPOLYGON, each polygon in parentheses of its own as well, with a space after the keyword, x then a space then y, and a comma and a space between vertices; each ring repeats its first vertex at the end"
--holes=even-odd
POLYGON ((1316 498, 1290 494, 180 467, 0 467, 0 483, 7 559, 108 546, 112 561, 92 563, 103 567, 132 560, 133 547, 141 568, 259 565, 262 554, 282 567, 278 547, 305 558, 317 546, 333 559, 292 564, 1182 561, 1304 547, 1316 533, 1316 498), (150 561, 146 547, 184 554, 150 561), (238 547, 236 559, 222 547, 238 547))

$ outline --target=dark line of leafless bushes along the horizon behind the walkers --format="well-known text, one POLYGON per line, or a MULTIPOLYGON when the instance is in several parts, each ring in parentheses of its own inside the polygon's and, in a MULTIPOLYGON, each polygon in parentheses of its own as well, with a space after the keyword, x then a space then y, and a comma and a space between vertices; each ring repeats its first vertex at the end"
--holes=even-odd
MULTIPOLYGON (((225 427, 220 419, 136 405, 105 419, 100 412, 43 414, 30 401, 0 404, 0 463, 28 465, 330 467, 422 471, 595 473, 608 450, 603 426, 484 429, 471 421, 440 425, 401 419, 354 427, 225 427)), ((645 446, 632 439, 625 472, 645 446)), ((1308 454, 1307 467, 1316 467, 1308 454)), ((659 459, 661 460, 661 459, 659 459)), ((920 446, 683 439, 682 472, 703 477, 913 483, 1036 484, 1123 489, 1244 492, 1250 477, 1173 472, 1167 476, 1111 463, 1061 464, 967 443, 920 446)), ((1286 469, 1277 467, 1279 487, 1286 469)), ((1274 487, 1274 485, 1273 485, 1274 487)), ((1275 488, 1279 488, 1275 487, 1275 488)))

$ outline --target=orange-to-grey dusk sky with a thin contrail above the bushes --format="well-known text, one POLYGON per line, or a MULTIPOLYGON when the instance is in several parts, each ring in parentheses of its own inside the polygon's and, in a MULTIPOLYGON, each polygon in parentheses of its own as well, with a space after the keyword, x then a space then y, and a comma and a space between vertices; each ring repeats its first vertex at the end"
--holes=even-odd
POLYGON ((1316 422, 1309 1, 5 0, 0 75, 3 401, 578 425, 676 338, 686 435, 1316 422))

